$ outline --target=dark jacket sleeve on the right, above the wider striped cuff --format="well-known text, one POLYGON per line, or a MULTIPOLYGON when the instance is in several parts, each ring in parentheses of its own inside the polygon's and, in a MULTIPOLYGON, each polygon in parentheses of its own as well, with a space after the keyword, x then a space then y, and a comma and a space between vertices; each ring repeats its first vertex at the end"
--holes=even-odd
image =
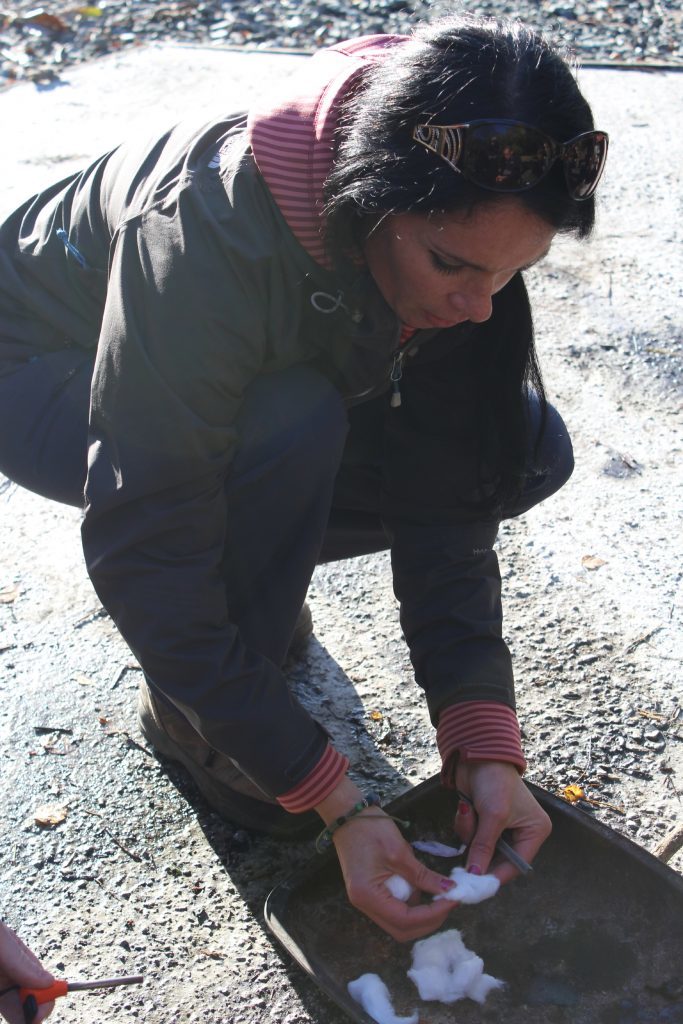
POLYGON ((386 416, 384 521, 394 590, 434 725, 455 705, 494 701, 511 715, 515 707, 494 550, 499 519, 476 504, 481 399, 470 361, 471 346, 505 332, 511 312, 527 317, 530 330, 521 279, 501 296, 484 330, 435 339, 438 353, 427 342, 424 359, 420 353, 413 364, 407 356, 402 403, 386 416))

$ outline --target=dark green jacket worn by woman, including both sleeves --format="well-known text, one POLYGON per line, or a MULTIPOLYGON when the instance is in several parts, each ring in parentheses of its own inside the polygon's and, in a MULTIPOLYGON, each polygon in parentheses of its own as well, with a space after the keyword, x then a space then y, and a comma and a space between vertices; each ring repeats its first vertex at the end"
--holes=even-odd
MULTIPOLYGON (((12 355, 95 353, 83 522, 92 582, 151 678, 279 795, 316 764, 327 737, 229 623, 218 567, 236 413, 257 374, 304 361, 349 401, 386 390, 399 325, 372 282, 340 285, 296 242, 244 123, 122 146, 9 217, 0 364, 3 345, 12 355), (311 303, 321 292, 334 312, 311 303)), ((519 317, 530 331, 517 276, 487 324, 420 332, 403 406, 387 415, 384 520, 434 722, 459 700, 513 703, 498 524, 473 516, 462 483, 476 475, 469 346, 500 341, 519 317)))

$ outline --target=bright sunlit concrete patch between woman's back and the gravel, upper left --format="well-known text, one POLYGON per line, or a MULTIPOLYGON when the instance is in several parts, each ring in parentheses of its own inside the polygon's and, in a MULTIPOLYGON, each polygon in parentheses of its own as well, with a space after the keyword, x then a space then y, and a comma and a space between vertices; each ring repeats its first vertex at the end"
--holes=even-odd
POLYGON ((45 87, 0 92, 0 210, 70 174, 127 133, 211 111, 231 113, 306 58, 267 52, 151 45, 70 68, 45 87))

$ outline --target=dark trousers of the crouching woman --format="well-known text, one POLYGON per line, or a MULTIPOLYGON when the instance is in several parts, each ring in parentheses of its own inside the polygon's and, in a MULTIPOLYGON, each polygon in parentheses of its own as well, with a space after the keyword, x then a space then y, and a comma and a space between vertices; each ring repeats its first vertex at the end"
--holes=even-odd
MULTIPOLYGON (((82 506, 91 373, 92 355, 67 350, 0 377, 0 472, 46 498, 82 506)), ((386 401, 384 395, 347 414, 332 386, 301 367, 260 377, 247 390, 241 446, 225 480, 230 542, 223 577, 243 638, 275 664, 284 659, 315 564, 388 547, 373 436, 376 403, 386 401)), ((536 442, 536 401, 530 415, 536 442)), ((572 467, 566 428, 549 407, 527 484, 505 517, 553 494, 572 467)))

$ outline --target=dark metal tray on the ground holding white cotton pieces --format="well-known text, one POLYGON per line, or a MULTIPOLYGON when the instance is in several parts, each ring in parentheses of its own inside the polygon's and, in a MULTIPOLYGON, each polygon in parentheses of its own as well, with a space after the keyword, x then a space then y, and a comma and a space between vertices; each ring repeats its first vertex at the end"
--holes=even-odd
MULTIPOLYGON (((458 908, 444 926, 460 929, 484 970, 506 982, 483 1006, 419 999, 405 974, 412 943, 350 906, 334 851, 273 889, 268 927, 358 1024, 372 1019, 346 985, 367 971, 386 982, 396 1014, 418 1008, 429 1024, 683 1024, 683 879, 585 812, 529 790, 553 822, 533 874, 458 908)), ((411 820, 410 839, 453 843, 453 801, 434 777, 388 809, 411 820)), ((425 860, 444 872, 461 862, 425 860)))

